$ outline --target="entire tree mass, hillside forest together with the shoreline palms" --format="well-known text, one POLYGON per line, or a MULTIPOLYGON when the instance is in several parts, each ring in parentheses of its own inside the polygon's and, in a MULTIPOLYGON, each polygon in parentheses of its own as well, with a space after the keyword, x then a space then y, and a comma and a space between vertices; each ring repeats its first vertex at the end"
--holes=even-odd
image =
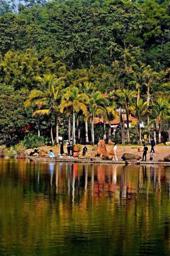
POLYGON ((170 141, 169 1, 0 0, 0 144, 144 135, 170 141))

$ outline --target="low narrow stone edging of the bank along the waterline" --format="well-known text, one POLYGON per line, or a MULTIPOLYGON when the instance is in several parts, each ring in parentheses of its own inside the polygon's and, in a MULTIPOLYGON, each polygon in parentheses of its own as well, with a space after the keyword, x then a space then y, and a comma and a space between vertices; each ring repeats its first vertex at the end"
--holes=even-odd
MULTIPOLYGON (((113 161, 113 160, 99 160, 96 159, 95 161, 88 160, 88 159, 51 159, 51 158, 38 158, 38 157, 27 157, 26 159, 30 160, 40 160, 43 162, 72 162, 72 163, 90 163, 90 164, 126 164, 125 161, 113 161)), ((128 164, 129 165, 129 164, 128 164)), ((136 165, 130 163, 130 165, 136 165)), ((170 165, 170 162, 139 162, 139 165, 170 165)))

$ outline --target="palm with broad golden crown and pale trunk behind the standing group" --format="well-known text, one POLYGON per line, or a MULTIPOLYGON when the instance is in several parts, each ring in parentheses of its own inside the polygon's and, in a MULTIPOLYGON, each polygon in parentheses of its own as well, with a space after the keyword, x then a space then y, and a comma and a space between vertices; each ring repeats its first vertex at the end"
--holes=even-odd
POLYGON ((65 94, 62 96, 62 102, 60 104, 60 111, 63 112, 65 109, 70 109, 73 112, 73 141, 76 144, 75 135, 75 112, 82 110, 83 115, 87 115, 87 107, 85 103, 89 100, 88 96, 84 93, 79 94, 77 87, 70 87, 65 90, 65 94))

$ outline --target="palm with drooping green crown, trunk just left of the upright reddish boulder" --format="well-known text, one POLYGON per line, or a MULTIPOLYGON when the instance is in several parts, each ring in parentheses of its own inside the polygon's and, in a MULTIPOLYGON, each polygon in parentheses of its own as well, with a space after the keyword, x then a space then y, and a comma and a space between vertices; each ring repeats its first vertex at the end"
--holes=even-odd
POLYGON ((101 94, 100 91, 94 91, 89 100, 89 109, 91 113, 91 145, 94 146, 94 115, 106 115, 105 106, 108 100, 101 94))

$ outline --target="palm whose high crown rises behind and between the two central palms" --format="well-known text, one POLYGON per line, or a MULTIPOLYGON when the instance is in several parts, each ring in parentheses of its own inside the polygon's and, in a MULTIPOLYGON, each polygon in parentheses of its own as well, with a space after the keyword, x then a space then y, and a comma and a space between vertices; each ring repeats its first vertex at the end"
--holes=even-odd
MULTIPOLYGON (((92 82, 85 81, 83 83, 79 84, 79 91, 81 93, 86 94, 89 98, 91 97, 91 93, 95 91, 96 87, 92 82)), ((88 107, 88 106, 87 106, 88 107)), ((89 143, 88 140, 88 119, 89 119, 89 112, 87 112, 87 115, 85 116, 85 142, 86 144, 89 143)))

